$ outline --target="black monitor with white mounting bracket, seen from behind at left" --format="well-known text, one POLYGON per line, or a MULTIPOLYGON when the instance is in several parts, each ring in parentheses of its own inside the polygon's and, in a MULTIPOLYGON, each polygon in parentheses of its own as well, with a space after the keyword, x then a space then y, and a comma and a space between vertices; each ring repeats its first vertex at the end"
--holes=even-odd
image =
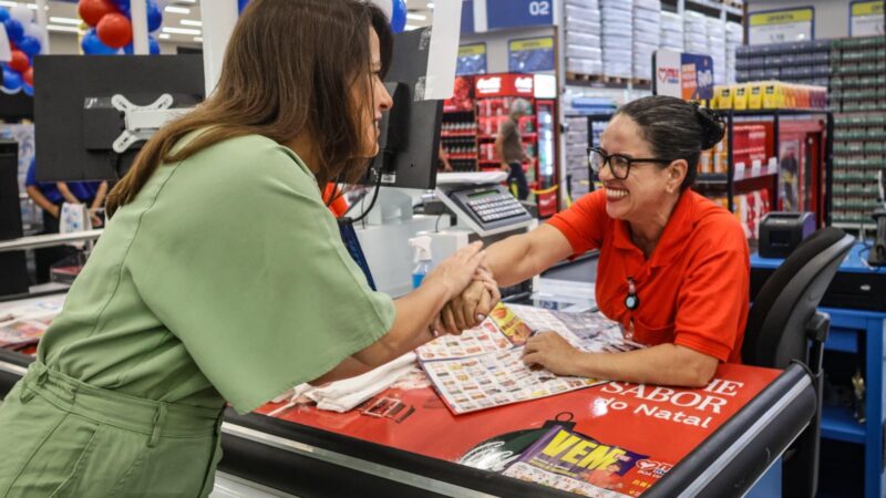
POLYGON ((204 98, 199 55, 48 55, 34 59, 34 75, 39 181, 112 180, 128 170, 144 142, 114 151, 126 127, 114 95, 148 105, 168 94, 172 107, 204 98))

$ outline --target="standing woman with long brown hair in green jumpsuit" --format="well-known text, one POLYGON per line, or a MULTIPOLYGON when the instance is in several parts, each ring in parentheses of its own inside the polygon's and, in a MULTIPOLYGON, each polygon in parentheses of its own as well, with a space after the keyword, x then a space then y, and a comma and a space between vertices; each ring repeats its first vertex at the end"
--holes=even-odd
POLYGON ((434 338, 480 245, 392 300, 318 187, 362 177, 378 153, 391 45, 359 0, 249 2, 215 92, 114 187, 104 235, 0 405, 0 496, 207 496, 226 402, 249 412, 434 338))

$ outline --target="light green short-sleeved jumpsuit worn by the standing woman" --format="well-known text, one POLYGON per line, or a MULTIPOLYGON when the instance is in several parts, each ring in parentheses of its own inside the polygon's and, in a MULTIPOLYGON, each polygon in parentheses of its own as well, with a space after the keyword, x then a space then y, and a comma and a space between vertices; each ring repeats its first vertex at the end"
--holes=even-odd
POLYGON ((226 402, 249 412, 393 319, 291 149, 253 135, 162 165, 0 405, 0 497, 207 496, 226 402))

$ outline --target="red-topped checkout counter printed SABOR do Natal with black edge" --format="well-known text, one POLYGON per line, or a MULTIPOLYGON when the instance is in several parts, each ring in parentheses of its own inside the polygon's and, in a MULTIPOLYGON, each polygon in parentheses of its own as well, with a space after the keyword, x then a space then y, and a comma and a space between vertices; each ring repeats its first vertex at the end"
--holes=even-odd
MULTIPOLYGON (((30 361, 0 349, 0 396, 30 361)), ((399 409, 229 409, 219 471, 296 496, 576 496, 485 469, 558 425, 641 458, 622 480, 633 496, 740 496, 761 476, 780 480, 780 456, 816 406, 797 365, 721 365, 704 390, 608 383, 457 416, 432 387, 378 398, 399 409)))

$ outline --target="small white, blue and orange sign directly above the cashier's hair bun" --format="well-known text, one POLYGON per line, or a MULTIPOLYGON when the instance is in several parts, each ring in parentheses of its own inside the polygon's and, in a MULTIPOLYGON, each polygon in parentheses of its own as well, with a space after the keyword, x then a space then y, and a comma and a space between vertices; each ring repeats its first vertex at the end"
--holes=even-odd
POLYGON ((713 59, 710 55, 657 50, 653 81, 657 95, 684 101, 713 97, 713 59))

